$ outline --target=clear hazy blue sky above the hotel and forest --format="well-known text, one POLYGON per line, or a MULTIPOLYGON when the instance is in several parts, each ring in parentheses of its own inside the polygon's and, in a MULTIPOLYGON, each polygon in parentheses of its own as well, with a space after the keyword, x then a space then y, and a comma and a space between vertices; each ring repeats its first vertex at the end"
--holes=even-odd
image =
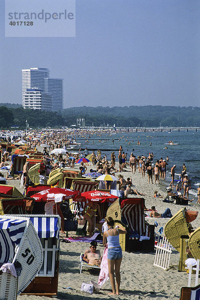
POLYGON ((64 107, 200 106, 198 0, 76 0, 75 9, 75 37, 4 37, 0 1, 0 102, 21 103, 21 69, 38 66, 64 78, 64 107))

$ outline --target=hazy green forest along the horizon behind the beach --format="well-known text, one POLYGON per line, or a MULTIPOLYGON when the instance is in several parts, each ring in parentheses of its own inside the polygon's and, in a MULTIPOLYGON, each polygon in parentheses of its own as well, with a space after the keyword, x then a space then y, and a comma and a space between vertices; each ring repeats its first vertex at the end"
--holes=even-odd
POLYGON ((60 111, 23 109, 19 104, 0 103, 0 128, 11 126, 58 127, 76 124, 77 118, 85 119, 85 126, 125 127, 193 127, 200 126, 200 107, 180 106, 114 106, 71 107, 60 111))

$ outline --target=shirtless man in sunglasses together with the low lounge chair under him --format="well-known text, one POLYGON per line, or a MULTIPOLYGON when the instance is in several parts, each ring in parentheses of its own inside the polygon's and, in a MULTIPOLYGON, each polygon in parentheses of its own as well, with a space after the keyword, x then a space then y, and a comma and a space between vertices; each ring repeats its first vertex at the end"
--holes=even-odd
POLYGON ((102 256, 100 256, 100 251, 96 250, 96 246, 97 246, 97 242, 95 240, 92 240, 90 242, 89 249, 86 249, 84 254, 80 254, 80 262, 79 262, 80 274, 83 266, 88 268, 100 269, 102 256))

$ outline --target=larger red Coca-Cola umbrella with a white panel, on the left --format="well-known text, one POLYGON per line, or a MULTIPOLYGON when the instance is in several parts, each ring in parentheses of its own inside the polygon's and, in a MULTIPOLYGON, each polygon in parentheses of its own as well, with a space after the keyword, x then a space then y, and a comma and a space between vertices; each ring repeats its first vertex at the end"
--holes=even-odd
POLYGON ((80 195, 79 190, 52 187, 52 188, 41 190, 35 193, 34 195, 31 195, 30 197, 34 198, 36 202, 54 201, 56 203, 70 198, 75 199, 78 195, 80 195))

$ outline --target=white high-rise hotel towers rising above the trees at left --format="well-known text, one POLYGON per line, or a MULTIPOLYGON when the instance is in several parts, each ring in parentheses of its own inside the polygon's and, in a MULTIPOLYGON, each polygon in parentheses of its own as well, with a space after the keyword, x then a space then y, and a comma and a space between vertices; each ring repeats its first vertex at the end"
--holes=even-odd
POLYGON ((63 79, 50 78, 48 68, 32 67, 29 69, 22 69, 22 106, 23 108, 45 110, 62 109, 63 79), (37 106, 35 106, 35 102, 33 102, 34 97, 31 98, 31 96, 35 94, 36 89, 38 89, 41 94, 45 94, 48 98, 51 96, 51 106, 49 106, 48 109, 46 107, 46 102, 45 104, 42 103, 44 99, 43 96, 40 97, 40 103, 37 101, 37 106))

